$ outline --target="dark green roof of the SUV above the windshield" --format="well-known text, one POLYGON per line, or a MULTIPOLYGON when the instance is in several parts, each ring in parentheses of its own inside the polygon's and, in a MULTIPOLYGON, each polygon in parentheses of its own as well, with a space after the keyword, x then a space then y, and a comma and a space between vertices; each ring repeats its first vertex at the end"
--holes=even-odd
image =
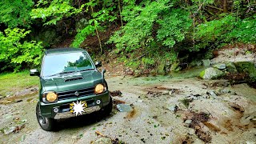
POLYGON ((56 48, 56 49, 49 49, 45 51, 45 55, 47 54, 62 54, 62 53, 72 53, 72 52, 86 52, 86 50, 80 48, 56 48))

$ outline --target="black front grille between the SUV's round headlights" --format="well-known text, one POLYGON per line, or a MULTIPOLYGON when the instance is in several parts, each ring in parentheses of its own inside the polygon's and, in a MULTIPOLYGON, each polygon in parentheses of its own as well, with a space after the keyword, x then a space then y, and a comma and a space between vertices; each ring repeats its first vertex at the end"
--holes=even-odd
POLYGON ((79 97, 94 94, 94 87, 80 89, 80 90, 63 91, 63 92, 58 92, 57 94, 58 94, 58 100, 79 98, 79 97), (78 92, 78 96, 75 94, 76 92, 78 92))

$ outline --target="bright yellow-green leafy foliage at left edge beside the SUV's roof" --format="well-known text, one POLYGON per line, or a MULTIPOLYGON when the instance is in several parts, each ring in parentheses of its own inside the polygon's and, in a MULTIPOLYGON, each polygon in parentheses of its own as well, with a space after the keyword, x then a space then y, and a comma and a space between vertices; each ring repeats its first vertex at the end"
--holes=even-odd
POLYGON ((30 31, 24 29, 6 29, 0 32, 0 62, 6 63, 1 70, 22 68, 22 64, 37 66, 42 56, 42 42, 21 42, 30 31), (8 64, 7 64, 8 63, 8 64))

